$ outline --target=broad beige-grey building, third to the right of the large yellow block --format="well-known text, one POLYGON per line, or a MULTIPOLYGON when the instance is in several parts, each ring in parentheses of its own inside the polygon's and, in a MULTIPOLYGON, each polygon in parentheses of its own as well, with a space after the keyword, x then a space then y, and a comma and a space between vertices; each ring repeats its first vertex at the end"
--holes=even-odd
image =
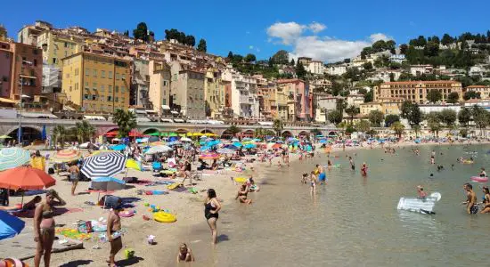
POLYGON ((191 119, 206 118, 204 77, 204 73, 190 69, 179 71, 176 96, 182 116, 191 119))

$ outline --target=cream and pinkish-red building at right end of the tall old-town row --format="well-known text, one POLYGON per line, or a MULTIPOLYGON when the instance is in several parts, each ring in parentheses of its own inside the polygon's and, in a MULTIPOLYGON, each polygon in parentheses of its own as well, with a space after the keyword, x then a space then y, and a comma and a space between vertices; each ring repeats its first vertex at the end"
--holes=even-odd
POLYGON ((313 95, 310 95, 309 84, 300 79, 282 79, 277 81, 277 85, 288 93, 290 121, 311 121, 314 118, 313 95))

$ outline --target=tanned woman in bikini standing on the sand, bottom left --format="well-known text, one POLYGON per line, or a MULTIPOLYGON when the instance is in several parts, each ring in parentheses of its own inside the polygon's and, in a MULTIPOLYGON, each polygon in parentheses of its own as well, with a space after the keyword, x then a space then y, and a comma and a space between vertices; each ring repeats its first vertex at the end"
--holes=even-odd
POLYGON ((37 242, 34 266, 36 267, 39 267, 42 255, 44 255, 45 266, 49 266, 54 241, 54 206, 65 204, 66 202, 55 190, 48 190, 45 201, 36 207, 34 212, 34 241, 37 242))

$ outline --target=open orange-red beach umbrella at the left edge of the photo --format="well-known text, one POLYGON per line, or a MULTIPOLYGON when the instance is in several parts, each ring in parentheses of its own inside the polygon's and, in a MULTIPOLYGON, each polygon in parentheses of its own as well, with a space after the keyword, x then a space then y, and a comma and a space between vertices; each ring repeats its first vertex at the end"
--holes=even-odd
POLYGON ((20 166, 0 173, 0 187, 12 190, 42 190, 56 183, 51 175, 36 168, 20 166))

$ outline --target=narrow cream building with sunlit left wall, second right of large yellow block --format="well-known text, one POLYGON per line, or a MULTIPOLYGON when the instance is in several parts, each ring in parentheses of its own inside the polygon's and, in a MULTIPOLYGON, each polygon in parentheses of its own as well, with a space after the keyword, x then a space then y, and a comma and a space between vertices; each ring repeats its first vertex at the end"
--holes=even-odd
MULTIPOLYGON (((152 109, 159 114, 169 115, 171 111, 180 112, 171 104, 171 70, 164 61, 149 61, 148 63, 149 89, 148 100, 152 109), (174 109, 172 109, 174 108, 174 109)), ((175 80, 177 85, 177 79, 175 80)))

